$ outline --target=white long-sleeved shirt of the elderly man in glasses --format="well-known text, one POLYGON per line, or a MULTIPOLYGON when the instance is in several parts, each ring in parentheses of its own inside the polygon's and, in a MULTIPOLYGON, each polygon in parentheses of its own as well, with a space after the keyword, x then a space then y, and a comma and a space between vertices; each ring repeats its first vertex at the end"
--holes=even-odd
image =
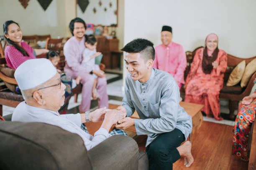
MULTIPOLYGON (((103 140, 109 137, 108 131, 100 128, 95 132, 94 136, 84 132, 81 127, 80 114, 59 114, 51 110, 32 107, 25 101, 18 104, 12 116, 12 121, 20 122, 42 122, 52 124, 69 132, 76 133, 84 140, 84 145, 87 150, 95 147, 103 140)), ((40 135, 40 134, 38 134, 40 135)))

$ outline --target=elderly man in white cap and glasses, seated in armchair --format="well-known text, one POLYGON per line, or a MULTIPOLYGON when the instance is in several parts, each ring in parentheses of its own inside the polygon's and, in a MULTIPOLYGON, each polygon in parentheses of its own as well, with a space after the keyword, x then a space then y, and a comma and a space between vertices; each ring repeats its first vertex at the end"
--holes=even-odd
POLYGON ((16 69, 14 76, 25 101, 14 110, 12 121, 43 122, 59 126, 82 137, 87 150, 107 139, 112 125, 126 116, 118 110, 105 108, 84 114, 60 115, 58 110, 64 104, 66 86, 61 83, 60 75, 51 61, 45 58, 25 61, 16 69), (101 120, 103 123, 94 136, 80 128, 81 123, 101 120))

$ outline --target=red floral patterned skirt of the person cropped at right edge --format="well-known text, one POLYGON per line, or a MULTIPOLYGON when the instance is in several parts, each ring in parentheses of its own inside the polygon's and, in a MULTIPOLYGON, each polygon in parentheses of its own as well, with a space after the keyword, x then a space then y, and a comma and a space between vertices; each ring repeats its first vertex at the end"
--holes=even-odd
MULTIPOLYGON (((254 92, 256 93, 256 92, 254 92)), ((251 131, 251 124, 255 119, 256 99, 251 104, 239 104, 238 114, 236 116, 235 127, 233 129, 232 155, 241 160, 248 161, 248 139, 251 131)))

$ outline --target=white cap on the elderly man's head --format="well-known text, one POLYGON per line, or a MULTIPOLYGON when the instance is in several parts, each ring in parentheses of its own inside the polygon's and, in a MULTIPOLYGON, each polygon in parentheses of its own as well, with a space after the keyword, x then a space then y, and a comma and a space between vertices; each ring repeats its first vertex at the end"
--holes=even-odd
POLYGON ((32 89, 51 79, 57 73, 56 68, 46 58, 36 58, 20 64, 14 73, 20 90, 32 89))

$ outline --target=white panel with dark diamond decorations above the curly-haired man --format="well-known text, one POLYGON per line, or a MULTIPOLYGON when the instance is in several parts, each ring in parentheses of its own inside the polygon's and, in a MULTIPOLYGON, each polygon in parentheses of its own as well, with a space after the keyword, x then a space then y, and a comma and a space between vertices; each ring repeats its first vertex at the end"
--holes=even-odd
POLYGON ((115 10, 117 9, 117 0, 101 0, 102 5, 99 5, 99 0, 90 0, 84 13, 82 13, 81 8, 77 5, 77 17, 82 18, 86 23, 92 23, 94 25, 111 25, 117 23, 117 15, 115 15, 115 10), (112 3, 110 7, 109 3, 112 3), (93 9, 96 9, 96 13, 93 9), (107 8, 107 11, 104 10, 107 8))

